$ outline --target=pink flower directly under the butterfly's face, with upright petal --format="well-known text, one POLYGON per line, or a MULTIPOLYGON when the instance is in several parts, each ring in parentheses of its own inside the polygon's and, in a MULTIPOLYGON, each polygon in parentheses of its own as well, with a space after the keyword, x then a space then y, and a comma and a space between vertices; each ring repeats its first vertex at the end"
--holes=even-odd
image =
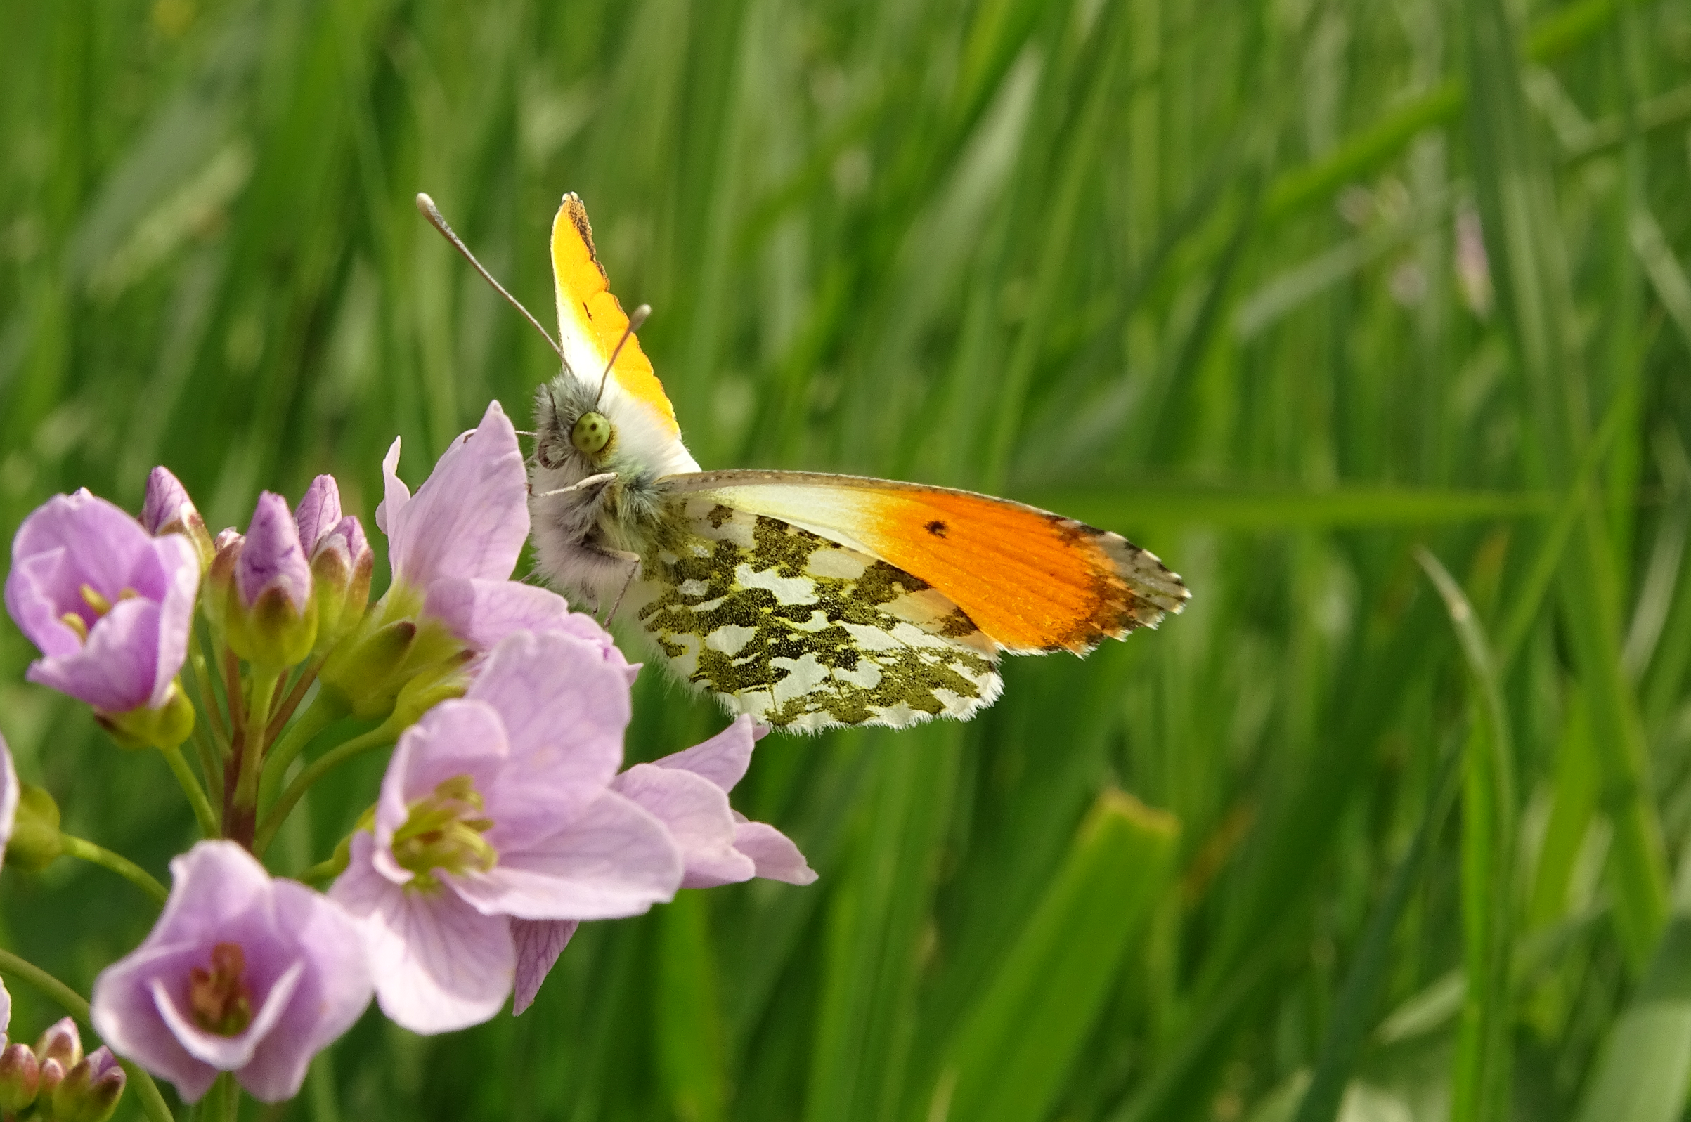
POLYGON ((416 495, 397 468, 394 439, 382 460, 386 497, 375 509, 394 590, 421 593, 423 615, 475 651, 514 630, 560 625, 568 612, 563 596, 509 580, 528 541, 528 468, 497 400, 473 433, 451 443, 416 495))

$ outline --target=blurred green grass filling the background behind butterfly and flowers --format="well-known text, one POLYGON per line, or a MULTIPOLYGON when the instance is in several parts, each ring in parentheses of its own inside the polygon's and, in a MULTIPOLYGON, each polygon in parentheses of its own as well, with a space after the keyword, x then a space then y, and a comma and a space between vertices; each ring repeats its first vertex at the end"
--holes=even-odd
MULTIPOLYGON (((0 0, 0 529, 154 463, 213 527, 318 471, 369 515, 550 370, 413 193, 545 313, 578 191, 705 466, 999 490, 1196 598, 971 725, 766 740, 815 887, 372 1016, 286 1117, 1679 1119, 1688 125, 1644 0, 0 0)), ((162 874, 167 774, 29 657, 20 771, 162 874)), ((719 723, 649 673, 631 755, 719 723)), ((149 921, 0 884, 83 989, 149 921)))

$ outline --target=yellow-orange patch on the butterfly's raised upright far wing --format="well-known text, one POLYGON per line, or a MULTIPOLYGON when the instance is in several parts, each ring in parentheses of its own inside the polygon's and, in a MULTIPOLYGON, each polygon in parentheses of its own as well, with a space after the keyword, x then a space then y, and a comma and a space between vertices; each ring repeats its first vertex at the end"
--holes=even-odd
MULTIPOLYGON (((587 208, 573 191, 563 196, 558 216, 551 221, 551 274, 558 289, 563 357, 577 377, 597 379, 627 330, 629 318, 610 294, 610 279, 594 252, 587 208)), ((651 407, 671 434, 681 431, 663 382, 653 373, 651 360, 639 348, 638 338, 629 336, 624 343, 610 377, 629 397, 651 407)))

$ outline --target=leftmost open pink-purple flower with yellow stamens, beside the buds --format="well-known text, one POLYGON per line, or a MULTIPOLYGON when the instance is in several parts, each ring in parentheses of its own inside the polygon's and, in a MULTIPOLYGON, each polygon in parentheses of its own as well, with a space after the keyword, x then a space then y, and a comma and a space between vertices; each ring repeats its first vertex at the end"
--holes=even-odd
POLYGON ((44 657, 29 681, 101 713, 162 708, 188 657, 200 556, 86 490, 37 507, 12 539, 5 603, 44 657))

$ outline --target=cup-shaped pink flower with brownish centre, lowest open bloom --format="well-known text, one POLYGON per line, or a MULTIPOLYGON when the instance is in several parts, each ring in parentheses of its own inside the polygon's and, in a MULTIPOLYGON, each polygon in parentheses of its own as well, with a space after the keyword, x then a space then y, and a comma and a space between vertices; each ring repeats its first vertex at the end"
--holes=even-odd
POLYGON ((233 842, 198 843, 171 875, 159 923, 95 980, 95 1029, 188 1102, 218 1071, 254 1098, 293 1098, 370 1004, 357 924, 233 842))

